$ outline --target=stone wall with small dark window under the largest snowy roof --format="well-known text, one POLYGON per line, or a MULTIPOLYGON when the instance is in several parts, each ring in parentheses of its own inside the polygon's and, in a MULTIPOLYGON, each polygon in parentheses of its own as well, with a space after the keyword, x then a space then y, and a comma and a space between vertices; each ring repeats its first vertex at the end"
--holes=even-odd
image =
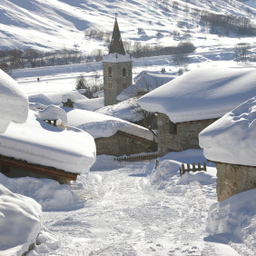
POLYGON ((171 133, 170 119, 163 113, 157 113, 158 153, 165 155, 172 151, 199 149, 198 134, 217 119, 207 119, 176 123, 176 133, 171 133))

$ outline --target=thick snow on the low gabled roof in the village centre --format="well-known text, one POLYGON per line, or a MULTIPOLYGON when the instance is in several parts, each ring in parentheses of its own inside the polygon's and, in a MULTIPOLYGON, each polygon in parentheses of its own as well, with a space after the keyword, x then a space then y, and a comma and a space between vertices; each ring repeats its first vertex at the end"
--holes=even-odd
POLYGON ((153 141, 153 133, 148 129, 102 113, 74 109, 67 112, 67 120, 69 125, 90 133, 94 139, 111 137, 121 131, 153 141))

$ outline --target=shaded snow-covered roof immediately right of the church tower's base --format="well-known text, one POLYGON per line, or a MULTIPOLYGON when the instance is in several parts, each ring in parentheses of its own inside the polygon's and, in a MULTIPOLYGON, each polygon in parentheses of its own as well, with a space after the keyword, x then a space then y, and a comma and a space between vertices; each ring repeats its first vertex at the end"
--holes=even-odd
POLYGON ((162 84, 170 82, 175 77, 175 75, 170 74, 151 74, 144 72, 136 80, 135 84, 123 89, 123 91, 117 95, 116 99, 118 101, 124 101, 138 94, 149 93, 162 84))

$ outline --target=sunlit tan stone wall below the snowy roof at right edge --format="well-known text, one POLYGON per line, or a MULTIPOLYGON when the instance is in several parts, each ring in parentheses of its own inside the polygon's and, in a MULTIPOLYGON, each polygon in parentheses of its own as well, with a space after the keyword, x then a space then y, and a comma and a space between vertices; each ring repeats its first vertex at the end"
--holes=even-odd
POLYGON ((256 167, 215 162, 217 168, 218 201, 256 188, 256 167))

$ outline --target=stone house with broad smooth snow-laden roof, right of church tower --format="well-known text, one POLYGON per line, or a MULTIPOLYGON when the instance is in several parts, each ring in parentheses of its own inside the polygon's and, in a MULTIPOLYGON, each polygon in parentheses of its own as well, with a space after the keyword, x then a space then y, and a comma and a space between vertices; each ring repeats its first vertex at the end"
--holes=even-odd
POLYGON ((157 114, 159 155, 200 148, 204 128, 256 94, 255 78, 255 69, 199 68, 140 98, 157 114))

